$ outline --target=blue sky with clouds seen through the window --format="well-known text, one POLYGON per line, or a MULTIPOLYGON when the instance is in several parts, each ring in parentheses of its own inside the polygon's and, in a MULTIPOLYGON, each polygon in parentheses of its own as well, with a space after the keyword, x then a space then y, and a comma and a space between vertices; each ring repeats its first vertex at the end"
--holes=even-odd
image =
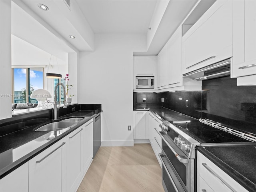
MULTIPOLYGON (((43 89, 43 72, 30 70, 30 86, 37 89, 43 89)), ((26 69, 14 68, 14 91, 20 91, 26 87, 26 69)))

